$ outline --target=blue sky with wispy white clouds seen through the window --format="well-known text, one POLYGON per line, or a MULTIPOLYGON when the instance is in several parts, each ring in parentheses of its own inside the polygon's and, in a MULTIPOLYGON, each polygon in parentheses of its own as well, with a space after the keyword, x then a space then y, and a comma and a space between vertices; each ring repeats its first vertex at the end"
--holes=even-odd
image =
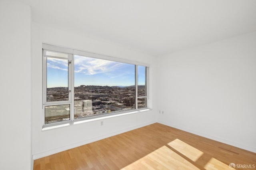
MULTIPOLYGON (((135 85, 135 65, 74 55, 74 87, 135 85)), ((138 85, 145 85, 145 67, 138 66, 138 85)), ((68 60, 47 58, 47 87, 68 87, 68 60)))

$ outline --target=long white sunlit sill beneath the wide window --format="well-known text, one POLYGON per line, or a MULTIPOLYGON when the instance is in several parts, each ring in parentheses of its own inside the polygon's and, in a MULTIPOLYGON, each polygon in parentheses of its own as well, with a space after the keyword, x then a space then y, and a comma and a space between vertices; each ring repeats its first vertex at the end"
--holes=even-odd
POLYGON ((129 111, 126 113, 120 113, 120 114, 114 114, 114 115, 109 115, 109 116, 102 116, 102 117, 97 117, 97 118, 92 118, 92 119, 83 119, 83 120, 74 120, 74 121, 68 121, 68 122, 62 122, 58 125, 52 125, 52 126, 46 126, 42 128, 42 131, 46 131, 46 130, 51 130, 51 129, 55 129, 55 128, 60 128, 60 127, 66 127, 66 126, 70 126, 70 125, 76 125, 76 124, 80 124, 80 123, 86 123, 86 122, 91 122, 91 121, 99 121, 102 119, 109 119, 112 117, 119 117, 119 116, 124 116, 124 115, 130 115, 130 114, 134 114, 134 113, 140 113, 140 112, 144 112, 144 111, 150 111, 151 109, 139 109, 136 111, 129 111))

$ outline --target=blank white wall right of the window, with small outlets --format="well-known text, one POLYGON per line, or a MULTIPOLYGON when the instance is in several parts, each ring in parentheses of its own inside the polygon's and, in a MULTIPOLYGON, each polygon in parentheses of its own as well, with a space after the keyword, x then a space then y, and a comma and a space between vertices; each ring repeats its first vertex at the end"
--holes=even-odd
POLYGON ((158 60, 158 121, 256 152, 256 32, 158 60))

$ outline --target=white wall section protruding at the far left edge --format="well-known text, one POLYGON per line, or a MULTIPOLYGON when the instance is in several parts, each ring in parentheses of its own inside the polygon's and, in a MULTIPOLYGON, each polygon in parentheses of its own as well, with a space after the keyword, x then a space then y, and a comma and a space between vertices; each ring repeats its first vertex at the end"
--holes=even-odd
POLYGON ((30 7, 0 1, 0 169, 31 166, 30 7))

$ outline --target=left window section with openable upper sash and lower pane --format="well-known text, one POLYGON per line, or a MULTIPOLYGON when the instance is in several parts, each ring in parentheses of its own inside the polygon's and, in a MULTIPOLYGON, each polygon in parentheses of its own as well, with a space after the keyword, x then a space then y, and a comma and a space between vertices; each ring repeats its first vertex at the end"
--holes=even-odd
POLYGON ((43 51, 44 124, 70 119, 72 55, 56 51, 43 51))

